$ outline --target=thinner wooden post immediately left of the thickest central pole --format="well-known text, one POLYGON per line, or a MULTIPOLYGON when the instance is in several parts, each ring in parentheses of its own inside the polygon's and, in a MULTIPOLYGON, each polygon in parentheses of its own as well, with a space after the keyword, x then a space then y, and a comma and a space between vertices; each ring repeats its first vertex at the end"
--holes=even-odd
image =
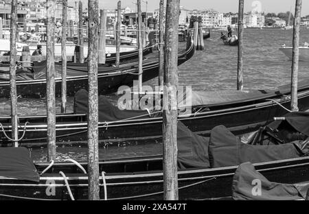
POLYGON ((163 84, 164 84, 164 0, 160 0, 160 8, 159 8, 159 86, 163 87, 163 84))

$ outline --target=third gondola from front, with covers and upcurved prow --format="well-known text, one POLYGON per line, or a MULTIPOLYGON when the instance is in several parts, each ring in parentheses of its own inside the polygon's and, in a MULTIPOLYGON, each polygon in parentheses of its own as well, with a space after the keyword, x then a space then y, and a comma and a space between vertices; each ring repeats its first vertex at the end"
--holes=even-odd
MULTIPOLYGON (((187 49, 179 53, 178 64, 183 64, 194 55, 194 43, 189 40, 187 49)), ((16 71, 17 95, 21 97, 44 97, 46 95, 45 80, 46 62, 35 62, 32 69, 16 71)), ((80 88, 88 88, 87 64, 67 65, 67 95, 73 96, 80 88)), ((143 81, 157 77, 159 60, 157 54, 150 54, 143 61, 143 81)), ((127 61, 119 68, 113 64, 100 64, 98 67, 99 94, 117 92, 120 86, 133 86, 133 80, 138 78, 138 62, 127 61)), ((61 95, 61 64, 56 64, 56 96, 61 95)), ((0 74, 0 97, 10 97, 10 82, 8 68, 0 74)))

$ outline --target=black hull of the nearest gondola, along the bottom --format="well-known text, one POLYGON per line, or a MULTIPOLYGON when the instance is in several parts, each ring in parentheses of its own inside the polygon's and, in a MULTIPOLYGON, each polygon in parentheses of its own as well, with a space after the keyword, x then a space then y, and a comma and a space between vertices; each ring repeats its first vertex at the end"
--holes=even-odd
MULTIPOLYGON (((230 200, 236 169, 237 166, 179 171, 179 200, 230 200)), ((260 163, 255 169, 273 182, 308 182, 309 157, 260 163)), ((73 198, 87 200, 87 175, 66 176, 73 198)), ((163 200, 163 173, 160 170, 106 174, 105 180, 107 200, 163 200)), ((102 177, 100 181, 100 198, 103 200, 102 177)), ((39 183, 0 178, 0 185, 1 200, 70 200, 64 178, 56 172, 42 176, 39 183)))

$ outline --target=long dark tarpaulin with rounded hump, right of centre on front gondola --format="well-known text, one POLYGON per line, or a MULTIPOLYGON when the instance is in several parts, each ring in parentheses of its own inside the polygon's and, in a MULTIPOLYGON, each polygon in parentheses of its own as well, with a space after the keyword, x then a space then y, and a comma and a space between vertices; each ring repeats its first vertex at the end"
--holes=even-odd
POLYGON ((246 162, 264 163, 299 158, 305 155, 300 147, 301 145, 297 142, 283 145, 247 145, 225 126, 218 126, 211 130, 210 134, 210 166, 211 168, 230 167, 246 162))

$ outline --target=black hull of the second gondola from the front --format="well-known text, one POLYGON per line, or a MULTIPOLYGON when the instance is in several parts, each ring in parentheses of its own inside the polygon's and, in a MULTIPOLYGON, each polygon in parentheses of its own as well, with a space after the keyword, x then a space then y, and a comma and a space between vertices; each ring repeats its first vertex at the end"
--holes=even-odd
MULTIPOLYGON (((190 117, 179 117, 190 130, 203 136, 209 136, 212 128, 224 125, 234 134, 244 134, 258 130, 265 126, 273 117, 281 117, 287 113, 290 99, 286 95, 273 97, 272 100, 262 102, 236 103, 225 106, 213 106, 216 110, 192 114, 190 117), (284 108, 282 108, 284 107, 284 108)), ((299 109, 309 109, 309 88, 299 91, 299 109)), ((26 122, 25 136, 21 145, 27 147, 41 147, 46 145, 46 116, 19 117, 22 127, 26 122)), ((10 118, 0 118, 4 130, 10 134, 10 118), (8 125, 6 125, 8 124, 8 125)), ((20 136, 23 128, 19 130, 20 136)), ((57 142, 60 145, 75 145, 87 143, 87 117, 86 115, 58 115, 56 124, 57 142)), ((144 143, 162 136, 162 118, 131 119, 113 123, 99 123, 100 146, 106 144, 121 145, 128 142, 144 143)), ((10 141, 1 135, 1 146, 10 146, 10 141)))

